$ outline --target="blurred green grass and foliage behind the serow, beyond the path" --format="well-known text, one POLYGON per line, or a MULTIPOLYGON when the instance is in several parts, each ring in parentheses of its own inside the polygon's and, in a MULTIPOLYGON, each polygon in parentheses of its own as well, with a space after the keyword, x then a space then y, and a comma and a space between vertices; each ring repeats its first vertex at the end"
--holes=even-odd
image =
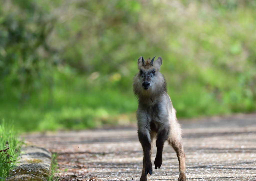
POLYGON ((21 131, 136 122, 140 56, 178 119, 256 110, 254 0, 0 0, 0 120, 21 131))

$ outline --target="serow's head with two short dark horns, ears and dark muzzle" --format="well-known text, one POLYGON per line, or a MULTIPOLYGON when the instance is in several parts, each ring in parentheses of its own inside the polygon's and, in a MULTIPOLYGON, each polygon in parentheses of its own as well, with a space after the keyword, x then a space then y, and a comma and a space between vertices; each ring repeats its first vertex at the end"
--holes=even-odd
POLYGON ((157 81, 157 75, 162 65, 162 57, 158 57, 155 62, 154 59, 155 57, 146 61, 143 57, 138 59, 138 69, 140 70, 140 79, 144 90, 150 89, 152 84, 157 81))

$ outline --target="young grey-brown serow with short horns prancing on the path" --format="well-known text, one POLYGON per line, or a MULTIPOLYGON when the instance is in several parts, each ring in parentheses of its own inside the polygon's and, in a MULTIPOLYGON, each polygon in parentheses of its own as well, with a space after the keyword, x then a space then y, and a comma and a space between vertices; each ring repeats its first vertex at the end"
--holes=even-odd
MULTIPOLYGON (((155 57, 154 57, 155 58, 155 57)), ((138 98, 137 125, 138 137, 143 148, 143 169, 140 181, 147 180, 153 172, 151 163, 151 143, 156 138, 155 169, 162 165, 162 152, 165 141, 177 153, 179 160, 178 181, 185 181, 185 153, 182 146, 182 130, 176 119, 176 110, 167 94, 166 81, 159 72, 162 57, 154 62, 138 59, 140 70, 133 79, 133 91, 138 98)))

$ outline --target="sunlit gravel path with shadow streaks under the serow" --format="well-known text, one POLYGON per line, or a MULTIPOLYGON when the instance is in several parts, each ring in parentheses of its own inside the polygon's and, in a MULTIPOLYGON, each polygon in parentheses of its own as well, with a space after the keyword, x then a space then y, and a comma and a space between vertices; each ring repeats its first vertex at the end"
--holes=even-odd
MULTIPOLYGON (((256 114, 182 120, 187 180, 256 180, 256 114)), ((142 147, 136 128, 24 135, 59 154, 60 180, 139 180, 142 147)), ((156 147, 153 148, 152 163, 156 147)), ((177 180, 178 159, 167 144, 149 180, 177 180)))

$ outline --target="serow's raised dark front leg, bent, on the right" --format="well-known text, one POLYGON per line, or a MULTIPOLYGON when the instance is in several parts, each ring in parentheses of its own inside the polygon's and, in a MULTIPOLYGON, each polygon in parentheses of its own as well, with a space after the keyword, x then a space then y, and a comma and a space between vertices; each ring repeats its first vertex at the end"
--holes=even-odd
POLYGON ((164 142, 168 139, 168 130, 163 129, 158 132, 156 139, 156 158, 155 158, 155 169, 160 168, 163 163, 162 153, 164 148, 164 142))

